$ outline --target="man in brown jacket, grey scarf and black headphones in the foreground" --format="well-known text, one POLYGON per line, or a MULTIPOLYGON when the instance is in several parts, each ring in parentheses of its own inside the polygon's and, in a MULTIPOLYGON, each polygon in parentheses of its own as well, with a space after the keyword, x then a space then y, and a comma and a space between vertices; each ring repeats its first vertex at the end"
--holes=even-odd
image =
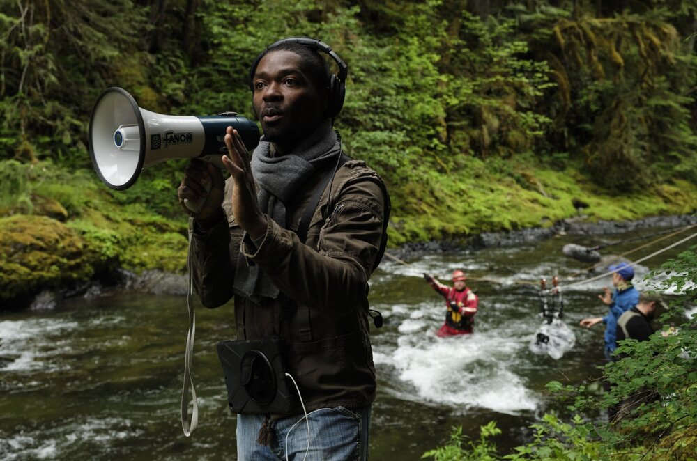
POLYGON ((200 205, 191 226, 202 304, 234 299, 238 339, 218 353, 240 460, 367 458, 376 388, 368 279, 385 249, 390 198, 332 129, 347 74, 319 40, 266 47, 250 69, 263 130, 251 162, 228 127, 230 178, 194 159, 178 188, 181 203, 200 205))

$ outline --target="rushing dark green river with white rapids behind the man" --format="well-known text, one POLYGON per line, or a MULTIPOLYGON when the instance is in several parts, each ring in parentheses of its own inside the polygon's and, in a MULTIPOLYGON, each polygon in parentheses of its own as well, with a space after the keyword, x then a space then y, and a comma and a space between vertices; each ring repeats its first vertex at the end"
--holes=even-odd
MULTIPOLYGON (((378 372, 371 459, 418 460, 447 442, 462 425, 472 439, 496 420, 502 452, 526 442, 544 412, 572 416, 545 384, 579 384, 599 376, 602 325, 579 320, 602 315, 597 299, 610 277, 563 290, 602 274, 562 254, 569 242, 591 246, 638 233, 560 235, 516 247, 431 253, 404 262, 385 258, 371 279, 372 308, 385 320, 372 331, 378 372), (447 281, 464 269, 480 297, 475 333, 437 338, 443 299, 422 272, 447 281), (539 279, 561 279, 566 315, 576 343, 560 359, 533 354, 530 339, 542 324, 539 279)), ((693 230, 694 232, 694 230, 693 230)), ((684 236, 684 235, 682 235, 684 236)), ((671 242, 631 254, 634 260, 671 242)), ((615 245, 620 254, 645 242, 615 245)), ((685 247, 647 260, 649 269, 685 247)), ((610 249, 603 251, 610 254, 610 249)), ((406 257, 405 257, 406 258, 406 257)), ((235 416, 227 409, 215 344, 234 336, 231 305, 197 304, 192 375, 199 427, 184 437, 180 405, 188 327, 182 296, 110 290, 68 299, 50 309, 0 314, 0 458, 3 460, 222 460, 236 458, 235 416)), ((601 414, 586 415, 602 420, 601 414)))

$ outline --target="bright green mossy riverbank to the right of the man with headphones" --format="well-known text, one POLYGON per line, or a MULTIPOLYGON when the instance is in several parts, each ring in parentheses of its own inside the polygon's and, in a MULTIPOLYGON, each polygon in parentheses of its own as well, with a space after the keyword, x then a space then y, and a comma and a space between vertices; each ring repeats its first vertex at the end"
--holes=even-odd
POLYGON ((466 237, 486 231, 549 227, 579 217, 574 198, 588 203, 584 219, 625 221, 697 209, 697 185, 684 180, 610 195, 578 169, 554 171, 530 157, 510 162, 471 159, 460 171, 428 171, 418 186, 392 193, 390 246, 414 240, 466 237))

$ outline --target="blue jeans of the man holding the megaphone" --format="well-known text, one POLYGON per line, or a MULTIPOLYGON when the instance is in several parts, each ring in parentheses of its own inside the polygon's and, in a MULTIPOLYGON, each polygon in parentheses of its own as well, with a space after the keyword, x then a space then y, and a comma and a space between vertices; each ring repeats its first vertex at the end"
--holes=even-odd
POLYGON ((286 416, 273 423, 270 446, 256 443, 263 414, 237 415, 238 461, 365 461, 368 459, 370 407, 351 411, 344 407, 322 408, 305 415, 286 416))

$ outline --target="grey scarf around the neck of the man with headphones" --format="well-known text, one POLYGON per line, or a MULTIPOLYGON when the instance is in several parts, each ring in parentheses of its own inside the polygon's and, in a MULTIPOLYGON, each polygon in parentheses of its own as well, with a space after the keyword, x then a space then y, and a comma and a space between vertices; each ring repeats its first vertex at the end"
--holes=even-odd
MULTIPOLYGON (((318 170, 333 165, 339 153, 339 141, 332 130, 331 120, 321 123, 291 153, 273 156, 271 143, 263 136, 252 154, 252 173, 259 185, 261 210, 286 228, 286 204, 298 189, 318 170)), ((261 298, 276 299, 279 289, 258 265, 249 265, 240 251, 237 258, 234 292, 259 303, 261 298)))

